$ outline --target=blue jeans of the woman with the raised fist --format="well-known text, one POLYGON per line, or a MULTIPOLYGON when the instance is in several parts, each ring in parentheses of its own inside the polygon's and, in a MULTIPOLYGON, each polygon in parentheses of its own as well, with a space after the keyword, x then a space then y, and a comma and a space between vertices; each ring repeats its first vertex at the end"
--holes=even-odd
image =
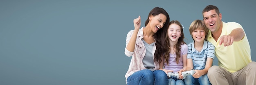
POLYGON ((162 70, 140 70, 127 78, 127 85, 167 85, 168 77, 162 70))

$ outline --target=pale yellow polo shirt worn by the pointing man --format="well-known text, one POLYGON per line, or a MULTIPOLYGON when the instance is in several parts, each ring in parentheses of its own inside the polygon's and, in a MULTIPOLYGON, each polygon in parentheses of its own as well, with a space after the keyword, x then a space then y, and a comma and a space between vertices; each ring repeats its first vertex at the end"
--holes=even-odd
MULTIPOLYGON (((243 27, 236 22, 222 22, 221 35, 229 35, 235 28, 243 27)), ((240 41, 234 41, 231 46, 224 47, 223 44, 219 45, 219 39, 217 42, 213 39, 211 31, 207 35, 207 40, 215 46, 215 55, 218 58, 218 65, 225 68, 229 72, 236 72, 244 68, 248 63, 252 62, 251 48, 245 34, 244 38, 240 41)))

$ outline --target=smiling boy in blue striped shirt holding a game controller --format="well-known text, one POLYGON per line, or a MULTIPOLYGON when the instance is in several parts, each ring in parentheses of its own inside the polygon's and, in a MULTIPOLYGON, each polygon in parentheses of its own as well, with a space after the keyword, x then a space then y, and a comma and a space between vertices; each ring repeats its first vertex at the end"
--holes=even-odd
POLYGON ((194 20, 189 26, 189 32, 194 41, 188 44, 187 68, 181 72, 195 70, 195 73, 186 76, 184 83, 186 85, 211 85, 207 72, 215 57, 215 47, 206 41, 209 30, 202 20, 194 20))

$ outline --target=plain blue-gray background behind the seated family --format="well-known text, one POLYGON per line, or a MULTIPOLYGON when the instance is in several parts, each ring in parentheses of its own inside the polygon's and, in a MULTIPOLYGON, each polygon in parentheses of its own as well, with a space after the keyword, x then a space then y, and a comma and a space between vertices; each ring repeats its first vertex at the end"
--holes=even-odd
POLYGON ((243 26, 256 61, 253 0, 0 0, 0 85, 126 85, 133 19, 141 15, 144 26, 162 7, 184 25, 189 43, 189 25, 209 4, 243 26))

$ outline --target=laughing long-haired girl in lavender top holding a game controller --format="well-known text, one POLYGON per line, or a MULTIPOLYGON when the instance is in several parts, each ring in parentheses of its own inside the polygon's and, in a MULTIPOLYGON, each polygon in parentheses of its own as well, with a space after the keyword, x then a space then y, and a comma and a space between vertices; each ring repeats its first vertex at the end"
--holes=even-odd
MULTIPOLYGON (((166 33, 167 51, 162 57, 163 61, 160 63, 160 70, 164 70, 166 73, 173 72, 178 74, 180 70, 186 68, 188 46, 183 39, 182 24, 177 20, 171 21, 166 33)), ((171 78, 168 78, 168 85, 184 85, 184 82, 181 78, 171 76, 171 78)))

